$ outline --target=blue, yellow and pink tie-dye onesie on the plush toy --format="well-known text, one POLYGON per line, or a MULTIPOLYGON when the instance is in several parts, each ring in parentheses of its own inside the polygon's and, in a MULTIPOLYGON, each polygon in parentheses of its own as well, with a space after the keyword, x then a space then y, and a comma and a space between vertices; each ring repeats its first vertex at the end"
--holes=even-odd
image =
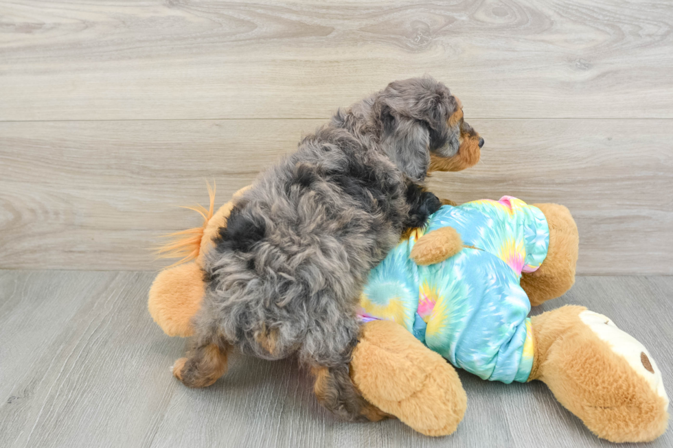
POLYGON ((530 301, 521 272, 547 256, 549 226, 537 207, 504 196, 444 206, 369 273, 363 320, 394 320, 456 367, 483 379, 524 382, 533 365, 530 301), (465 246, 457 255, 418 266, 415 241, 451 226, 465 246))

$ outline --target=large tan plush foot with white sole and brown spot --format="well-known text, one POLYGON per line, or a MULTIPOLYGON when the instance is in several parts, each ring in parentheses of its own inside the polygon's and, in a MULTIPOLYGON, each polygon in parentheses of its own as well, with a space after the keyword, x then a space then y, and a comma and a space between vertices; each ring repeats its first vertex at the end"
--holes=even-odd
POLYGON ((654 440, 668 425, 668 397, 648 350, 606 316, 565 306, 532 317, 534 365, 591 432, 611 442, 654 440))

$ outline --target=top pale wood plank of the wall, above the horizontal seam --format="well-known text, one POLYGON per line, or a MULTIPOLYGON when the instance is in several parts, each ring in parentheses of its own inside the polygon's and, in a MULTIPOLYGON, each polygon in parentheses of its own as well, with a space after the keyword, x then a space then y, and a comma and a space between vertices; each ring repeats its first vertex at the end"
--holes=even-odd
POLYGON ((673 4, 0 1, 0 120, 318 118, 431 73, 480 118, 673 118, 673 4))

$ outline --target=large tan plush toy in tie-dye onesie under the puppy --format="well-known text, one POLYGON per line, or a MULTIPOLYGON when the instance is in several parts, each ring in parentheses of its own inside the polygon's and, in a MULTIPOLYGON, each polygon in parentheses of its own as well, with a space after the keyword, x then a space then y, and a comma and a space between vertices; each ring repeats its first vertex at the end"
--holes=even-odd
MULTIPOLYGON (((183 258, 150 289, 150 314, 168 335, 191 335, 204 294, 203 257, 242 191, 216 213, 210 193, 209 210, 196 209, 203 227, 173 235, 179 240, 161 253, 183 258)), ((505 383, 544 381, 592 432, 613 442, 663 434, 668 397, 642 344, 584 307, 527 317, 531 305, 573 285, 577 255, 577 227, 560 205, 505 196, 443 206, 365 285, 365 323, 350 372, 373 405, 367 417, 395 416, 422 434, 451 434, 467 403, 457 366, 505 383)), ((174 365, 176 377, 183 364, 174 365)))

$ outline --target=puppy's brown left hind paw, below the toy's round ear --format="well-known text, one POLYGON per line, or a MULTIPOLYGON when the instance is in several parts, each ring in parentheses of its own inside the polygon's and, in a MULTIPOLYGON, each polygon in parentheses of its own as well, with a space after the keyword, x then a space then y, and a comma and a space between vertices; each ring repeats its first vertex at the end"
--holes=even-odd
POLYGON ((178 359, 173 375, 190 388, 205 388, 227 372, 227 355, 231 346, 223 341, 192 339, 187 357, 178 359))

